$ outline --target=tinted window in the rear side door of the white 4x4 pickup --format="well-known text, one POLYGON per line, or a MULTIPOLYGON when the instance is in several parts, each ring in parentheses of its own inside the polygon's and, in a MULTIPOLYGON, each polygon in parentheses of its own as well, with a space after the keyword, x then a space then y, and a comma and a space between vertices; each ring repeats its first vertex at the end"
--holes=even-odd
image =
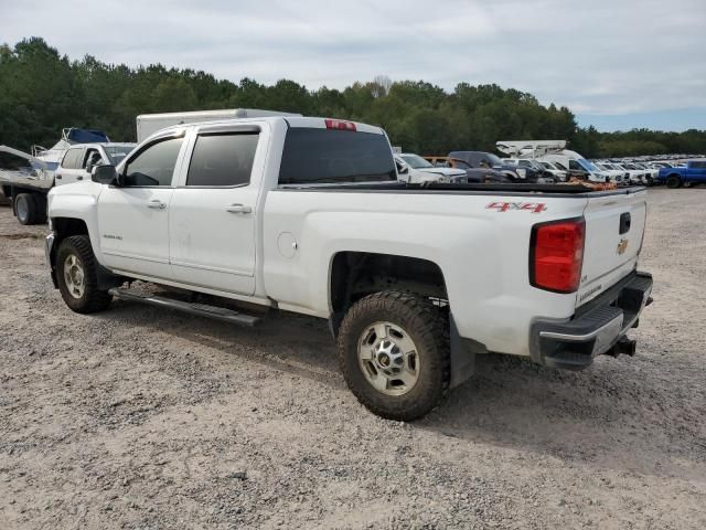
POLYGON ((186 186, 248 184, 258 138, 257 132, 200 135, 191 156, 186 186))

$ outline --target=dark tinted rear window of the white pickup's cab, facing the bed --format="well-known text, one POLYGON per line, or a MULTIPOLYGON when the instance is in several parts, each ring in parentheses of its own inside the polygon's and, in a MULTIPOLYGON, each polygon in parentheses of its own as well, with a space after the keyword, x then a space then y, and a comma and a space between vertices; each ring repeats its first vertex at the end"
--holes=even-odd
POLYGON ((280 184, 395 181, 384 135, 292 127, 287 131, 280 184))

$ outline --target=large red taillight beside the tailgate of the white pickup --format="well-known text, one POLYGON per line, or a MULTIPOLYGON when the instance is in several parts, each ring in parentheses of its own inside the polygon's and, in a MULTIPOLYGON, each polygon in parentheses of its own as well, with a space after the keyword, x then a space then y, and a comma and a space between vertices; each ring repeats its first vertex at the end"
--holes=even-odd
POLYGON ((541 289, 574 293, 581 279, 586 222, 573 219, 532 229, 530 283, 541 289))

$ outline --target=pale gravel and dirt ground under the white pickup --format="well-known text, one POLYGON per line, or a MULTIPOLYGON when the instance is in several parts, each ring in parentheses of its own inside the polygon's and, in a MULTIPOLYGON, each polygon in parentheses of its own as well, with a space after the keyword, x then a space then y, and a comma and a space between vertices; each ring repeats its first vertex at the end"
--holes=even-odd
POLYGON ((706 190, 650 191, 635 358, 488 356, 414 424, 325 322, 72 314, 0 208, 0 528, 706 528, 706 190))

